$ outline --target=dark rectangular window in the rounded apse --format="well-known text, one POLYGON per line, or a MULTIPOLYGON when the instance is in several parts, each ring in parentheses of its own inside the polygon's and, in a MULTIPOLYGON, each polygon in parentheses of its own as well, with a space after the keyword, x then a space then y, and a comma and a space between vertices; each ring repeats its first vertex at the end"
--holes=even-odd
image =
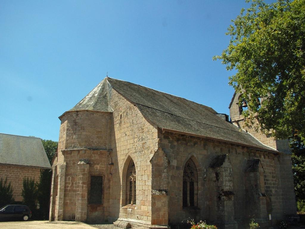
POLYGON ((103 203, 103 176, 90 176, 89 204, 103 203))

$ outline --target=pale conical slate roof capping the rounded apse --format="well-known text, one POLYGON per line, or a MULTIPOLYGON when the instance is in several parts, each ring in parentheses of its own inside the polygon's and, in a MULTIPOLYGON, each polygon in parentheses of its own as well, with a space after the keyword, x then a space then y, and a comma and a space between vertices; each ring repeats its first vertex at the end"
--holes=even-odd
POLYGON ((109 84, 103 79, 88 95, 69 111, 105 111, 112 112, 109 107, 109 84))

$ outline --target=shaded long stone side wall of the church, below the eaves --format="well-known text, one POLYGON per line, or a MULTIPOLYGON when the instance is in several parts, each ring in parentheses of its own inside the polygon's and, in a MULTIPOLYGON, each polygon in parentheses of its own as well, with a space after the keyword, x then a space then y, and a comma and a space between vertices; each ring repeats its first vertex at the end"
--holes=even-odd
MULTIPOLYGON (((170 224, 180 224, 182 220, 188 219, 189 217, 196 220, 213 221, 215 223, 219 223, 221 217, 232 220, 231 216, 225 214, 234 209, 234 221, 231 224, 225 225, 224 228, 236 228, 236 223, 242 225, 249 218, 256 218, 258 221, 264 222, 265 225, 271 225, 271 223, 276 223, 278 220, 284 219, 287 214, 296 213, 295 201, 293 200, 291 159, 287 154, 276 155, 252 150, 247 147, 236 146, 234 144, 168 132, 160 133, 159 147, 162 148, 169 160, 168 217, 170 224), (213 169, 210 168, 210 163, 216 155, 224 154, 227 154, 227 157, 230 159, 231 169, 225 169, 226 166, 222 165, 224 166, 224 169, 222 169, 224 171, 223 187, 217 187, 221 183, 217 183, 216 177, 213 176, 216 170, 213 172, 213 169), (195 164, 197 163, 199 197, 197 208, 182 207, 183 168, 188 158, 192 158, 195 164), (271 198, 272 222, 268 220, 266 210, 266 214, 263 217, 256 214, 254 210, 252 215, 245 214, 246 206, 254 205, 249 201, 245 193, 245 184, 247 182, 245 172, 246 164, 248 160, 253 159, 259 159, 264 169, 264 177, 262 178, 264 189, 261 192, 263 193, 264 191, 271 198), (233 195, 226 199, 224 198, 226 196, 225 193, 229 192, 221 193, 221 191, 232 191, 233 195), (219 202, 220 200, 227 202, 221 203, 219 202), (231 200, 234 200, 233 205, 230 204, 231 200), (218 217, 218 208, 221 206, 225 208, 224 216, 218 217), (283 211, 282 209, 285 210, 283 211), (213 216, 217 216, 218 218, 213 216)), ((217 176, 220 177, 221 174, 218 173, 217 176)), ((258 192, 256 194, 259 195, 258 192)), ((266 209, 266 201, 261 201, 258 207, 266 209)))

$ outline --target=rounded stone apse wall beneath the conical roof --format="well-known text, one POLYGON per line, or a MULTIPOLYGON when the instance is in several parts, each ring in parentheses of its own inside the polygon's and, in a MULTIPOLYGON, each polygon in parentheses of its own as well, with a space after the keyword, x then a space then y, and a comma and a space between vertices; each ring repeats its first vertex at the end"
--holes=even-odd
MULTIPOLYGON (((110 147, 110 132, 112 123, 112 114, 96 111, 71 111, 66 112, 61 117, 61 126, 59 131, 59 146, 56 162, 53 163, 53 170, 58 171, 57 177, 54 177, 53 183, 56 187, 52 188, 52 203, 50 219, 55 220, 89 220, 105 219, 109 208, 109 187, 105 186, 105 198, 102 205, 88 205, 88 185, 90 175, 103 175, 104 183, 109 186, 109 172, 107 155, 110 147), (80 173, 79 162, 85 161, 88 164, 88 171, 80 173), (79 180, 78 174, 83 174, 79 180), (107 179, 108 181, 106 181, 107 179), (80 183, 84 183, 85 188, 81 189, 83 193, 82 201, 84 206, 77 206, 77 192, 79 192, 80 183), (57 192, 57 193, 56 193, 57 192), (88 216, 87 216, 88 212, 88 216), (79 213, 79 217, 77 216, 79 213)), ((54 186, 54 185, 53 185, 54 186)))

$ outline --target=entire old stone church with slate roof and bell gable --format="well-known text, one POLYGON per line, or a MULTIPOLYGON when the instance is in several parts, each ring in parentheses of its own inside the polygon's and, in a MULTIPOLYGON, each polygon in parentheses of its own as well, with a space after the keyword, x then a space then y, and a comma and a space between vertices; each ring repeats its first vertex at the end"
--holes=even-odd
POLYGON ((59 117, 50 220, 179 228, 188 218, 242 229, 296 214, 288 141, 242 130, 212 108, 105 78, 59 117), (180 225, 180 226, 179 226, 180 225))

